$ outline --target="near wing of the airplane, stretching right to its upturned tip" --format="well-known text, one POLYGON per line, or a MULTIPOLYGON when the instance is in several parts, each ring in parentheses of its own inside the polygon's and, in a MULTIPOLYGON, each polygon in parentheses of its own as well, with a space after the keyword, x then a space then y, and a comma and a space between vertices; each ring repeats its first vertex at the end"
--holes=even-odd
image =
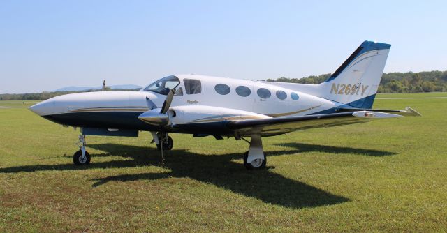
POLYGON ((417 116, 418 112, 411 108, 406 110, 358 110, 347 109, 332 114, 317 114, 301 117, 278 117, 269 119, 251 119, 242 121, 230 121, 227 127, 234 130, 240 136, 251 135, 252 132, 261 133, 263 136, 279 135, 296 130, 309 128, 323 128, 332 126, 344 126, 353 123, 363 123, 372 119, 385 119, 407 116, 417 116), (393 112, 393 113, 389 113, 393 112), (397 113, 397 114, 394 114, 397 113))

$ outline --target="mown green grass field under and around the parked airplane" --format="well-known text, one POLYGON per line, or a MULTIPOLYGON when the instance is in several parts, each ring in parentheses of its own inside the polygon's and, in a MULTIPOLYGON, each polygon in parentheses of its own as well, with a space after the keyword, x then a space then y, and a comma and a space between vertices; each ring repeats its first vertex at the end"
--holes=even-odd
POLYGON ((432 97, 447 93, 374 103, 423 117, 267 137, 263 171, 242 140, 190 135, 161 166, 148 133, 87 137, 75 167, 78 131, 0 101, 0 232, 446 232, 447 98, 432 97))

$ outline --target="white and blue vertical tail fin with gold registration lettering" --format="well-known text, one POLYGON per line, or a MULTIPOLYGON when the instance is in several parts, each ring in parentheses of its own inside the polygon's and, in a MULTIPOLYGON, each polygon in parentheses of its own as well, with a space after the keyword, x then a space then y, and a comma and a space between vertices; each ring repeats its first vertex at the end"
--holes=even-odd
POLYGON ((371 108, 390 47, 363 42, 328 80, 318 84, 318 96, 351 107, 371 108))

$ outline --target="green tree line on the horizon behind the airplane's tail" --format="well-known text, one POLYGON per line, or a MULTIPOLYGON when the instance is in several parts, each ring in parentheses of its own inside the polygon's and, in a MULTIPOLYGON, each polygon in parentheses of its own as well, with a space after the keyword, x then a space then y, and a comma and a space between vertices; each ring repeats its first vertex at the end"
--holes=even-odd
MULTIPOLYGON (((331 74, 298 78, 279 77, 270 82, 293 82, 302 84, 319 84, 331 74)), ((383 73, 379 93, 433 92, 447 91, 447 71, 423 71, 418 73, 393 72, 383 73)))

